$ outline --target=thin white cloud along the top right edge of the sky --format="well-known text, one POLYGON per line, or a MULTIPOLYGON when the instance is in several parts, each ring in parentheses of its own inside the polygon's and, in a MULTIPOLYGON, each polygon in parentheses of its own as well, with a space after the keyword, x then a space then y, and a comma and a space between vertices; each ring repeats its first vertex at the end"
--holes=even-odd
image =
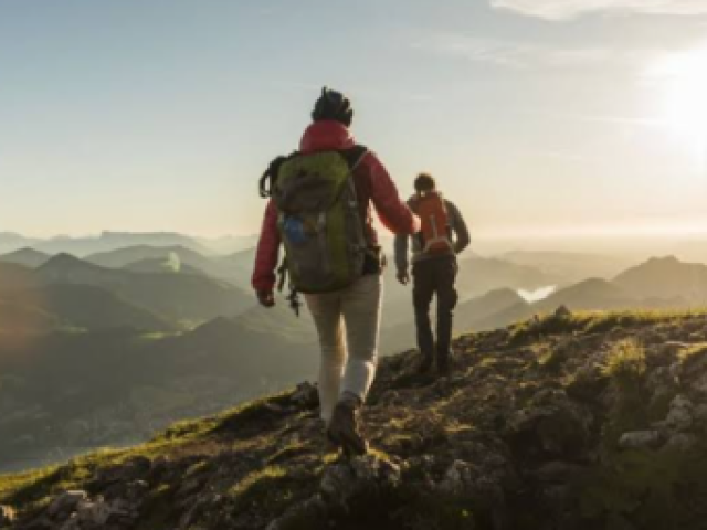
POLYGON ((490 0, 490 6, 552 21, 601 12, 707 14, 707 0, 490 0))

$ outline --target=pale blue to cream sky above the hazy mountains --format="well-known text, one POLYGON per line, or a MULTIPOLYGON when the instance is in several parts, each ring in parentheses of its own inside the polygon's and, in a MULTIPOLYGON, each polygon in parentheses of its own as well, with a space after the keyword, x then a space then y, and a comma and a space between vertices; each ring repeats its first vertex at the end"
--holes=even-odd
POLYGON ((707 232, 707 0, 0 0, 0 232, 254 233, 323 85, 476 236, 707 232))

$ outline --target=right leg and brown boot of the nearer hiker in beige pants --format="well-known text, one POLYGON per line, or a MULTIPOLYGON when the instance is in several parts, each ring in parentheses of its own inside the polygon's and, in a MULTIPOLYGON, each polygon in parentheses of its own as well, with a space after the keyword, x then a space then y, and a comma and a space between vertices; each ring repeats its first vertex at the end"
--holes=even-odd
POLYGON ((381 298, 380 275, 361 277, 342 295, 349 357, 328 435, 349 455, 362 455, 368 451, 359 427, 359 411, 376 375, 381 298))

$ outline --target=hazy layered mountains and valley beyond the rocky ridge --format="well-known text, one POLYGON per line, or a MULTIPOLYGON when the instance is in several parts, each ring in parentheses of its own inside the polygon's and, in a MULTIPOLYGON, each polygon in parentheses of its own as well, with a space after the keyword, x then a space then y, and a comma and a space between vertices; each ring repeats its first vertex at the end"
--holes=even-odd
MULTIPOLYGON (((176 418, 315 373, 307 311, 296 318, 281 296, 265 310, 250 292, 253 248, 213 255, 167 243, 84 258, 31 248, 0 256, 0 441, 7 441, 0 468, 59 458, 55 448, 71 452, 80 439, 88 446, 143 439, 176 418), (18 464, 18 454, 30 460, 18 464)), ((461 259, 456 332, 496 329, 559 306, 693 308, 707 297, 707 266, 675 257, 572 283, 557 266, 572 256, 553 254, 547 264, 541 257, 461 259), (557 288, 535 303, 518 294, 547 286, 557 288)), ((382 354, 414 347, 411 288, 395 282, 392 267, 386 283, 382 354)))

